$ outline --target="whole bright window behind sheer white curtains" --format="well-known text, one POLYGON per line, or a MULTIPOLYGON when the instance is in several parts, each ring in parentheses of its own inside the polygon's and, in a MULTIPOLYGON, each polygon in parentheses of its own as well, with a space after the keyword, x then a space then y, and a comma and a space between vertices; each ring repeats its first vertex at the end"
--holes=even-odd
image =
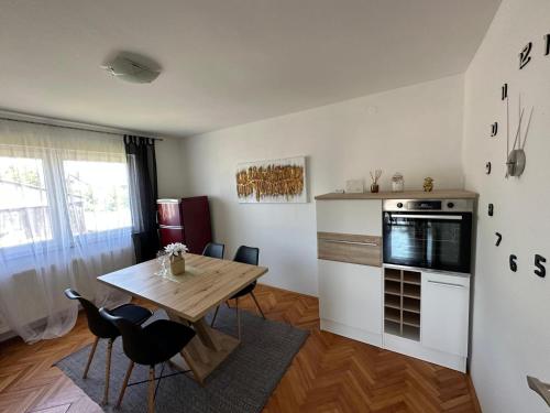
POLYGON ((81 237, 99 242, 107 233, 111 240, 129 237, 131 226, 123 148, 114 153, 2 148, 0 249, 4 252, 29 253, 31 246, 45 242, 73 247, 81 237))

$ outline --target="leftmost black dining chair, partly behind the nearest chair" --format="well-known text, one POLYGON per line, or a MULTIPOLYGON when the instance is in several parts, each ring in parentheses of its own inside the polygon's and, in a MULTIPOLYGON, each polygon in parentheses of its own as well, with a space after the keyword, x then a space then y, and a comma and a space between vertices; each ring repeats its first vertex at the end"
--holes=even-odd
MULTIPOLYGON (((107 362, 106 362, 106 383, 103 391, 103 404, 109 403, 109 381, 110 381, 110 370, 111 370, 111 352, 112 352, 112 344, 114 339, 120 336, 119 329, 109 323, 103 317, 99 315, 99 309, 91 303, 90 301, 84 298, 80 294, 78 294, 75 290, 67 289, 65 290, 65 295, 69 300, 78 300, 80 305, 84 307, 86 312, 86 318, 88 319, 88 328, 96 336, 96 340, 91 346, 90 355, 88 356, 88 362, 86 363, 86 368, 84 369, 82 379, 86 379, 88 376, 88 370, 90 369, 91 360, 94 359, 94 355, 96 354, 96 348, 98 346, 100 338, 109 339, 107 344, 107 362)), ((124 304, 119 307, 111 309, 112 314, 117 316, 124 317, 129 319, 130 323, 141 325, 148 317, 153 315, 151 311, 144 307, 140 307, 139 305, 133 304, 124 304)))

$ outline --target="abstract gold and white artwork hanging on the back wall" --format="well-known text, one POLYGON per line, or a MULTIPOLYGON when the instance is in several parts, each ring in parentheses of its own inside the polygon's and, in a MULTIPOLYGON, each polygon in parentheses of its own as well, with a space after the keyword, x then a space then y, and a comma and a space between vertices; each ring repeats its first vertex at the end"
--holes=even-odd
POLYGON ((240 203, 307 203, 306 156, 240 163, 240 203))

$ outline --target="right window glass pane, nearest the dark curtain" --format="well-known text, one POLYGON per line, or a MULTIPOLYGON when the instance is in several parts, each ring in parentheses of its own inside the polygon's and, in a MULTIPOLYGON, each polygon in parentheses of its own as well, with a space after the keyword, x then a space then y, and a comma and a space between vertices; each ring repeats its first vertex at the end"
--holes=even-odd
POLYGON ((64 161, 74 235, 131 227, 125 163, 64 161))

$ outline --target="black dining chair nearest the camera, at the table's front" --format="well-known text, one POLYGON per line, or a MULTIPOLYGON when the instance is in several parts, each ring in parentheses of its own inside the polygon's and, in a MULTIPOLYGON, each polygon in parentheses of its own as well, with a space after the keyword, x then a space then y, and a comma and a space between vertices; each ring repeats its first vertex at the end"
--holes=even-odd
POLYGON ((164 362, 182 352, 185 346, 195 337, 195 330, 180 323, 168 319, 158 319, 150 325, 142 327, 124 316, 117 316, 113 312, 106 308, 100 308, 99 313, 103 319, 112 323, 122 335, 122 348, 124 354, 130 359, 122 389, 120 390, 117 409, 120 409, 124 392, 128 387, 141 384, 143 381, 129 384, 130 376, 134 365, 148 366, 148 401, 147 412, 155 411, 155 395, 161 384, 161 379, 174 374, 185 373, 187 371, 177 372, 174 374, 163 376, 164 362), (155 366, 163 363, 161 376, 155 378, 155 366), (158 380, 155 390, 155 380, 158 380))

